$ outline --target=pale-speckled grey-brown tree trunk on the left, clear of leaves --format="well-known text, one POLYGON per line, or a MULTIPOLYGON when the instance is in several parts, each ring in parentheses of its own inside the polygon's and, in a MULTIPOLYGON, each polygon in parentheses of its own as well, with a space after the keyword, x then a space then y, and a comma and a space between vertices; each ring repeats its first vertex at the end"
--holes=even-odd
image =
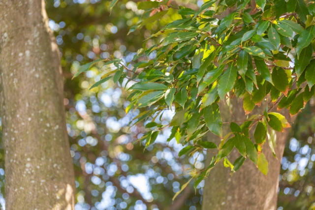
POLYGON ((0 0, 6 210, 73 210, 58 45, 44 0, 0 0))

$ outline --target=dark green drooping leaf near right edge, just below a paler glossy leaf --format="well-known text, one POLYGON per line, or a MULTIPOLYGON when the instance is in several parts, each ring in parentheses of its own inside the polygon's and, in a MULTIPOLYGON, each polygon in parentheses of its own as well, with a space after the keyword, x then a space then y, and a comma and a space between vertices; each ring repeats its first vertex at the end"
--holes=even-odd
POLYGON ((294 67, 296 71, 297 78, 300 77, 300 75, 303 73, 305 67, 310 64, 311 58, 312 58, 312 53, 313 53, 313 47, 312 44, 304 48, 300 56, 295 56, 294 60, 294 67))

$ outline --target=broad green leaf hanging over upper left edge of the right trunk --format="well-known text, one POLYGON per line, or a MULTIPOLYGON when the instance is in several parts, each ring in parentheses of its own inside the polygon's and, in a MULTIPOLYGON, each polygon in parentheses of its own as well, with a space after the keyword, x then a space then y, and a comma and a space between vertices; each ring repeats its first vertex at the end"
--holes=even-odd
POLYGON ((219 105, 213 103, 210 106, 207 106, 203 116, 210 131, 222 138, 222 118, 219 105))

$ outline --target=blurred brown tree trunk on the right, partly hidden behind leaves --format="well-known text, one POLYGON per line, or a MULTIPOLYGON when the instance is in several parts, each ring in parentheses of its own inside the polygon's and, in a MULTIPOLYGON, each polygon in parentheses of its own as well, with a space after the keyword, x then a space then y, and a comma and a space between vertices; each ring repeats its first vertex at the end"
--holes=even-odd
MULTIPOLYGON (((250 115, 263 114, 268 102, 265 101, 260 107, 255 107, 250 115)), ((272 103, 270 104, 272 105, 272 103)), ((228 105, 220 103, 222 121, 246 120, 243 110, 242 100, 237 101, 234 97, 231 99, 230 110, 228 105)), ((275 109, 273 111, 276 111, 275 109)), ((295 117, 290 118, 287 111, 281 113, 293 121, 295 117)), ((238 123, 239 125, 241 122, 238 123)), ((251 136, 256 126, 251 130, 251 136)), ((230 131, 229 123, 222 126, 223 135, 230 131)), ((276 155, 278 160, 273 156, 268 140, 263 145, 262 152, 265 154, 269 163, 269 172, 265 177, 254 165, 246 158, 244 165, 233 176, 230 175, 230 168, 225 168, 222 161, 210 171, 209 177, 205 181, 204 194, 202 197, 202 210, 276 210, 277 196, 280 174, 280 160, 283 156, 284 145, 289 132, 289 128, 284 133, 277 133, 276 155)), ((209 137, 211 141, 217 143, 220 139, 215 136, 209 137)), ((228 159, 233 163, 240 153, 235 148, 232 150, 228 159)), ((207 162, 210 162, 208 157, 207 162)))

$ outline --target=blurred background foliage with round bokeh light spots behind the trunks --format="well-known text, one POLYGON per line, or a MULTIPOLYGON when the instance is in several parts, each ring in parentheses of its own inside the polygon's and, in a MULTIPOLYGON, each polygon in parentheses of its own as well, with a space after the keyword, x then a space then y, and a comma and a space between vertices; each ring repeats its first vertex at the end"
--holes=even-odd
MULTIPOLYGON (((127 92, 107 81, 89 90, 110 71, 99 65, 72 80, 82 64, 95 59, 124 58, 130 61, 143 41, 172 20, 170 10, 159 23, 151 23, 127 35, 143 14, 137 1, 119 0, 111 15, 108 0, 47 0, 49 26, 61 52, 64 77, 64 105, 70 152, 76 175, 76 210, 200 210, 201 182, 193 181, 172 203, 180 186, 190 179, 189 168, 203 169, 206 153, 178 157, 182 149, 170 130, 163 130, 154 145, 144 150, 132 144, 146 132, 145 123, 129 126, 140 113, 125 113, 127 92)), ((203 0, 172 0, 171 6, 198 8, 203 0)), ((148 47, 155 44, 149 40, 148 47)), ((168 123, 171 112, 158 116, 168 123)), ((152 119, 149 119, 152 120, 152 119)), ((280 176, 278 210, 315 208, 315 101, 299 114, 284 150, 280 176)), ((4 210, 4 153, 0 143, 0 204, 4 210)), ((211 176, 211 175, 210 175, 211 176)))

